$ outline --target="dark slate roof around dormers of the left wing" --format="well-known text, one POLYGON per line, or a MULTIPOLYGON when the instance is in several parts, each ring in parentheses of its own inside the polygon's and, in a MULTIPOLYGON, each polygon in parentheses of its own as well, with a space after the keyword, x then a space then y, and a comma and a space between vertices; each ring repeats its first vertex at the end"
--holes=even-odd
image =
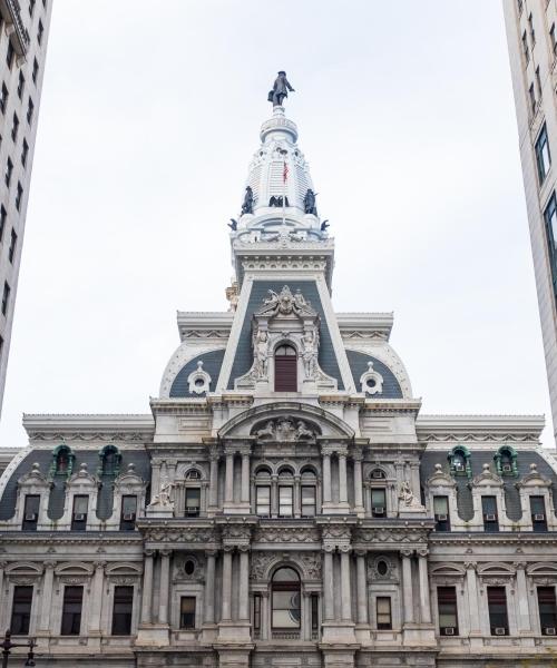
MULTIPOLYGON (((97 475, 97 469, 100 465, 99 452, 95 450, 72 450, 76 455, 72 472, 77 473, 82 463, 87 464, 87 471, 91 475, 97 475)), ((53 448, 52 448, 53 451, 53 448)), ((32 450, 19 463, 13 471, 8 484, 6 485, 2 499, 0 500, 0 520, 9 520, 16 512, 17 482, 31 470, 35 462, 39 464, 40 472, 48 478, 50 464, 52 463, 51 450, 32 450)), ((146 450, 123 450, 120 473, 128 469, 128 464, 135 464, 135 472, 145 481, 150 481, 150 460, 146 450)), ((66 475, 56 475, 52 480, 53 488, 50 490, 48 501, 48 517, 51 520, 59 520, 63 514, 63 502, 66 498, 66 475)), ((98 494, 97 517, 106 520, 113 511, 113 481, 114 477, 102 477, 101 487, 98 494)))

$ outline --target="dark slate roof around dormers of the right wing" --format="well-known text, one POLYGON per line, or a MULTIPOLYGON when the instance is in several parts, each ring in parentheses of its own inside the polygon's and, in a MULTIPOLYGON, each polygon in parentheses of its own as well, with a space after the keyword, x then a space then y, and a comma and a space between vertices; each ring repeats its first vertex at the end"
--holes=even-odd
MULTIPOLYGON (((468 446, 468 445, 467 445, 468 446)), ((479 475, 483 470, 483 464, 489 464, 490 470, 495 472, 494 456, 497 453, 498 448, 494 448, 492 452, 486 450, 470 450, 470 465, 472 469, 472 478, 479 475)), ((441 464, 443 471, 449 473, 449 461, 447 455, 451 451, 451 448, 447 448, 447 452, 431 451, 424 452, 421 459, 420 465, 420 479, 421 484, 424 485, 428 478, 430 478, 434 470, 436 464, 441 464)), ((511 520, 519 520, 522 517, 522 509, 520 508, 520 494, 516 487, 516 483, 521 480, 525 475, 530 473, 530 464, 537 464, 538 473, 551 480, 551 490, 554 497, 554 507, 557 511, 557 474, 546 460, 539 455, 539 453, 527 450, 518 451, 517 465, 518 477, 506 477, 504 475, 504 493, 505 504, 507 507, 507 514, 511 520)), ((466 477, 456 477, 457 482, 457 504, 458 514, 462 520, 471 520, 473 517, 472 507, 472 492, 468 485, 470 482, 466 477)))

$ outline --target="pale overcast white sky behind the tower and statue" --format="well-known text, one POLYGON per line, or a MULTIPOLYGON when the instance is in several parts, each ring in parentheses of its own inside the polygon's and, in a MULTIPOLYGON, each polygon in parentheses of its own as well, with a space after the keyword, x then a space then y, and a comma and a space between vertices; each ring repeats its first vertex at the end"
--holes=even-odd
POLYGON ((335 308, 394 311, 422 412, 549 420, 499 0, 56 0, 48 48, 2 445, 148 412, 176 310, 227 308, 278 69, 335 308))

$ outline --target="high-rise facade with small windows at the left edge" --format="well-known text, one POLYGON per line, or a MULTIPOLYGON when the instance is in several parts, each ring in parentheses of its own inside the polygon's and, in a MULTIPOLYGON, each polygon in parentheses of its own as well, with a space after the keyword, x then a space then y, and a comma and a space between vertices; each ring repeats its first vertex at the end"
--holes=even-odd
POLYGON ((0 411, 53 0, 0 0, 0 411))

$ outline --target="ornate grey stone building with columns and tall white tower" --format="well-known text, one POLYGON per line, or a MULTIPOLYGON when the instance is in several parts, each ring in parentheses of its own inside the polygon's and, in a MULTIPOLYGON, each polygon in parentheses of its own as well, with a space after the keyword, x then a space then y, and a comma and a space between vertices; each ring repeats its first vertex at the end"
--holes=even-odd
POLYGON ((384 313, 275 107, 225 313, 178 313, 153 415, 26 415, 0 479, 0 628, 38 665, 553 665, 556 462, 538 416, 419 416, 384 313), (524 662, 522 662, 524 660, 524 662))

